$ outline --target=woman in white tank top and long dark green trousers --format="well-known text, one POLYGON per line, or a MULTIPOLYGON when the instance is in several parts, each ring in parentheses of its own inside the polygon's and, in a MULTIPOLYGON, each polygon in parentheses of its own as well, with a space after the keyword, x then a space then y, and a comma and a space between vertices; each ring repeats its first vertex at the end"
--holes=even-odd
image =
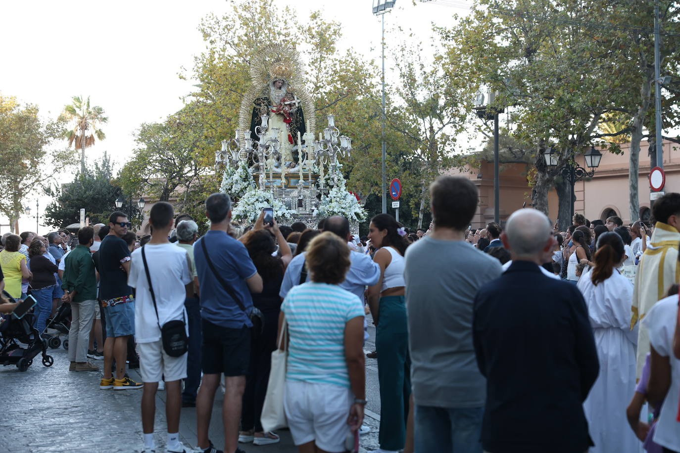
POLYGON ((379 453, 402 450, 406 441, 411 378, 409 336, 405 306, 404 253, 408 243, 404 228, 389 214, 371 219, 371 244, 377 249, 373 261, 380 266, 380 280, 369 287, 375 349, 380 383, 379 453))

